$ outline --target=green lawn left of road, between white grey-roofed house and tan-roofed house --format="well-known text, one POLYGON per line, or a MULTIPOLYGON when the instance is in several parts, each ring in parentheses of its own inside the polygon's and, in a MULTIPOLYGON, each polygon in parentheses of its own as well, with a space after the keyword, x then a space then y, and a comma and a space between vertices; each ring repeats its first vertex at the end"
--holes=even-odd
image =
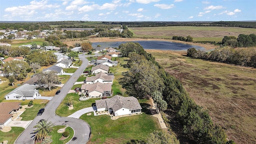
MULTIPOLYGON (((27 105, 29 101, 30 100, 24 100, 22 101, 21 105, 27 105)), ((18 102, 18 100, 16 100, 16 102, 18 102)), ((20 115, 20 117, 22 117, 22 120, 34 120, 38 111, 41 108, 44 108, 44 106, 47 103, 48 103, 48 100, 33 100, 34 106, 32 108, 26 108, 26 110, 20 115)))

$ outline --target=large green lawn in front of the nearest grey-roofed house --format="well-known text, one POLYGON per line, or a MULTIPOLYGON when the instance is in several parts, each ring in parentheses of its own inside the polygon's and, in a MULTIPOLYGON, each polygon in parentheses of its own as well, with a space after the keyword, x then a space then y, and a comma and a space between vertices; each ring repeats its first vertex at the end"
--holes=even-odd
MULTIPOLYGON (((141 103, 142 106, 147 105, 141 103)), ((110 140, 115 144, 124 144, 130 140, 146 140, 154 130, 159 130, 158 122, 152 115, 144 112, 135 116, 127 116, 111 120, 110 116, 94 114, 82 115, 80 119, 86 121, 91 129, 92 144, 104 144, 110 140), (99 134, 100 133, 100 134, 99 134)))

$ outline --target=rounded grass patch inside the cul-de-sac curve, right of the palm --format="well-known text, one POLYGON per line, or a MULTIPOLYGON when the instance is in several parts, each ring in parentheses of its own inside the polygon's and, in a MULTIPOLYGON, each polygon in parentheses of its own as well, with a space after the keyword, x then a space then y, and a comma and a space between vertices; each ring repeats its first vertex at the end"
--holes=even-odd
POLYGON ((62 137, 62 133, 58 133, 57 131, 60 128, 65 128, 65 126, 54 126, 53 128, 54 130, 49 134, 52 136, 52 144, 66 144, 74 136, 74 130, 70 127, 67 127, 65 131, 69 132, 68 138, 65 140, 60 140, 60 138, 62 137))

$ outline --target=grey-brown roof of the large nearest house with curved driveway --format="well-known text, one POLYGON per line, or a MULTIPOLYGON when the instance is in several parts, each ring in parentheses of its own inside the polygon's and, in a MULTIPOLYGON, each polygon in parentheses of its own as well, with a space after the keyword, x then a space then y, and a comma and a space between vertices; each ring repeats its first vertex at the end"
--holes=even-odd
POLYGON ((115 95, 112 98, 95 100, 97 108, 112 108, 113 112, 120 110, 121 108, 127 108, 129 110, 142 109, 137 98, 133 96, 123 97, 115 95))

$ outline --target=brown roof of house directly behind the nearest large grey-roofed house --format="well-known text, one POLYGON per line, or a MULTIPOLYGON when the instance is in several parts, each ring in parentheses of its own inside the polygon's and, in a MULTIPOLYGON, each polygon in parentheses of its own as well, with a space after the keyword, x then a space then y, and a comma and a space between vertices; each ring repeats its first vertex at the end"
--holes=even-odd
POLYGON ((102 84, 100 82, 96 82, 94 84, 83 84, 81 86, 81 90, 88 90, 88 93, 97 91, 97 92, 106 92, 106 91, 111 91, 111 84, 102 84))

